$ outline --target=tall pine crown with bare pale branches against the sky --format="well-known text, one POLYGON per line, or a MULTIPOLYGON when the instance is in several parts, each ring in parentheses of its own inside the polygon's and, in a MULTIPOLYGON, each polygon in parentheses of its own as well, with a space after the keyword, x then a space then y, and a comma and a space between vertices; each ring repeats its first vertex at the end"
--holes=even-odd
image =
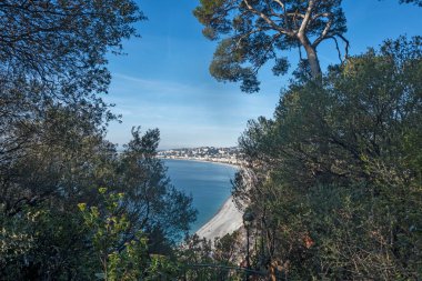
POLYGON ((289 62, 283 51, 303 48, 311 76, 321 76, 316 49, 325 40, 349 42, 341 0, 201 0, 194 16, 210 40, 223 38, 210 66, 211 74, 222 81, 242 81, 245 92, 259 91, 257 73, 274 60, 273 73, 284 74, 289 62))

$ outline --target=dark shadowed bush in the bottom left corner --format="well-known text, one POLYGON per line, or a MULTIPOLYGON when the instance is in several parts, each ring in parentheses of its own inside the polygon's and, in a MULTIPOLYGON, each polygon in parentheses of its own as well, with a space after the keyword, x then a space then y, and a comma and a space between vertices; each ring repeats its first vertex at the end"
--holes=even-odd
POLYGON ((44 203, 0 218, 2 280, 88 279, 93 274, 94 263, 84 243, 87 232, 80 228, 82 218, 77 212, 44 203))

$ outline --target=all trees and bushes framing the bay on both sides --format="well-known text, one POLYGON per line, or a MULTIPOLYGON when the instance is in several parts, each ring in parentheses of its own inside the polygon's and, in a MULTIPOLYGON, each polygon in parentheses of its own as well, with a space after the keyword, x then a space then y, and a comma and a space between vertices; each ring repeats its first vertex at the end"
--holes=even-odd
POLYGON ((239 140, 247 252, 242 230, 177 247, 197 213, 157 158, 158 129, 133 128, 120 152, 104 138, 119 119, 101 100, 105 54, 138 36, 134 1, 2 1, 0 14, 1 280, 422 278, 421 37, 322 71, 322 41, 348 48, 341 1, 200 1, 204 34, 222 37, 219 80, 258 91, 268 61, 283 74, 283 52, 307 53, 273 118, 239 140))

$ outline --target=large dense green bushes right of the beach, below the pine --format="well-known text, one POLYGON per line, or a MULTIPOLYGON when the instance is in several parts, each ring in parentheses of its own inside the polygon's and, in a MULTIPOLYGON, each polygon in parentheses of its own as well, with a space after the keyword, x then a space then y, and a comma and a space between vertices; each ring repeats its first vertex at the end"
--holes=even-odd
POLYGON ((421 277, 421 38, 386 41, 322 84, 292 83, 272 120, 250 122, 234 193, 259 218, 267 267, 302 280, 421 277))

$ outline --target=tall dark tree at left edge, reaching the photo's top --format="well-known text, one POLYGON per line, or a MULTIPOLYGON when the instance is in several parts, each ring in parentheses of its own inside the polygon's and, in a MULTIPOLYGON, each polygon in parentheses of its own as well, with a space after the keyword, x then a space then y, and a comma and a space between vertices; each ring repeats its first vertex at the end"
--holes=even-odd
POLYGON ((131 0, 2 1, 0 14, 0 199, 12 215, 58 189, 78 193, 63 171, 110 149, 105 54, 144 17, 131 0))

